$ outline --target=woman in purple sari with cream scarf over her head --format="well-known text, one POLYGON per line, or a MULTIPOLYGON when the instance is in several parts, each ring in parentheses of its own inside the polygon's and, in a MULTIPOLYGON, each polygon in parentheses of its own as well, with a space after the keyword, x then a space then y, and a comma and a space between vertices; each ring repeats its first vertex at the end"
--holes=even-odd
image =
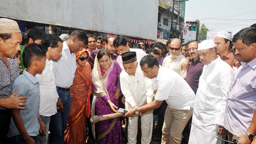
MULTIPOLYGON (((93 95, 97 96, 95 115, 117 112, 120 84, 116 75, 121 73, 118 63, 111 60, 107 50, 98 51, 92 70, 93 95)), ((121 122, 119 118, 96 123, 98 143, 122 143, 121 122)))

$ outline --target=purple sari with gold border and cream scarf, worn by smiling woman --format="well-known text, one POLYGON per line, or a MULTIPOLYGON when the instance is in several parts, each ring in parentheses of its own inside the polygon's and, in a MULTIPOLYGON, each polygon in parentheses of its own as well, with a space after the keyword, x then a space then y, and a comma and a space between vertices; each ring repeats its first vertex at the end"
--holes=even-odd
MULTIPOLYGON (((97 63, 95 61, 95 63, 97 63)), ((118 108, 118 99, 115 99, 116 89, 121 89, 119 82, 116 85, 116 73, 121 73, 121 68, 116 63, 118 72, 112 61, 109 69, 104 72, 99 66, 92 71, 92 82, 94 84, 94 95, 97 95, 95 105, 95 115, 105 115, 114 113, 109 107, 107 101, 111 100, 118 108), (97 74, 98 73, 98 74, 97 74), (102 87, 104 84, 104 87, 102 87), (107 91, 107 92, 106 92, 107 91)), ((96 135, 98 143, 122 143, 120 118, 108 119, 96 123, 96 135)))

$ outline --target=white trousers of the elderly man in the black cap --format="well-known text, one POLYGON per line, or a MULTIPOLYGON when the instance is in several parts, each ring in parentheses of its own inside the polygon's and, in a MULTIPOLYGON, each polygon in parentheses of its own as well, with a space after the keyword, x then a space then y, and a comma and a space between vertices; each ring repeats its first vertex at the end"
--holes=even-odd
MULTIPOLYGON (((128 124, 128 143, 127 144, 136 144, 137 143, 137 129, 138 129, 138 117, 136 114, 133 117, 129 117, 128 124)), ((143 116, 141 116, 141 143, 149 144, 151 142, 153 131, 153 110, 148 111, 143 116)))

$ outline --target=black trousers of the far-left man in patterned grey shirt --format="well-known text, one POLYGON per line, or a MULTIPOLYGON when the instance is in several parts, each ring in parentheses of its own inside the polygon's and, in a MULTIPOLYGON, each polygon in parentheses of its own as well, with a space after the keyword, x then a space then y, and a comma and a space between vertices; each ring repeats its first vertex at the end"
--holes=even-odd
POLYGON ((0 143, 11 143, 10 138, 7 137, 10 122, 11 110, 0 109, 0 143))

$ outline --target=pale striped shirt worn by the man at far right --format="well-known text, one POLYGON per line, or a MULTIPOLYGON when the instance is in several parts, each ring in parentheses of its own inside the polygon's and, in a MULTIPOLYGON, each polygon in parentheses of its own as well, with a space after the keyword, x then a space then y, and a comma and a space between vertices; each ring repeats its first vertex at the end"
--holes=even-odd
POLYGON ((256 108, 256 58, 242 63, 228 90, 224 127, 233 135, 243 135, 256 108))

